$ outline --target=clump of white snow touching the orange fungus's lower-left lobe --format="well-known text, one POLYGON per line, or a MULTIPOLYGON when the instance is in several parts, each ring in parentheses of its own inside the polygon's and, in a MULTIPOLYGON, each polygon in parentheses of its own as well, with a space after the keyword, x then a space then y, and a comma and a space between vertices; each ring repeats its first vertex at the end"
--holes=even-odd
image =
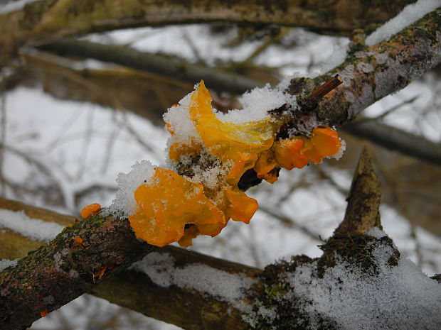
POLYGON ((143 183, 149 182, 154 175, 154 166, 147 160, 134 163, 132 170, 119 173, 117 177, 118 190, 112 205, 102 211, 103 215, 128 216, 137 211, 134 191, 143 183))

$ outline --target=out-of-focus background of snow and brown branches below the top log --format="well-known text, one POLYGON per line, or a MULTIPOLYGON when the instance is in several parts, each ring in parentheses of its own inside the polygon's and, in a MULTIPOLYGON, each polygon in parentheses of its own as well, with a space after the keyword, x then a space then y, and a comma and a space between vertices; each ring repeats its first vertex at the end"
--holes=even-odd
MULTIPOLYGON (((292 75, 314 75, 344 60, 349 38, 302 28, 228 23, 137 28, 21 48, 0 72, 0 196, 78 216, 109 205, 115 178, 137 160, 160 165, 161 116, 203 77, 219 111, 240 109, 238 95, 292 75), (119 64, 115 64, 119 63, 119 64)), ((363 111, 363 119, 441 141, 441 70, 363 111)), ((350 125, 350 124, 349 124, 350 125)), ((427 275, 441 273, 441 167, 339 133, 339 160, 282 170, 250 189, 260 209, 249 225, 230 223, 191 249, 259 268, 317 245, 343 219, 363 144, 383 182, 383 227, 427 275)), ((350 131, 350 130, 349 130, 350 131)), ((358 134, 359 135, 359 134, 358 134)), ((179 329, 84 295, 32 328, 179 329)))

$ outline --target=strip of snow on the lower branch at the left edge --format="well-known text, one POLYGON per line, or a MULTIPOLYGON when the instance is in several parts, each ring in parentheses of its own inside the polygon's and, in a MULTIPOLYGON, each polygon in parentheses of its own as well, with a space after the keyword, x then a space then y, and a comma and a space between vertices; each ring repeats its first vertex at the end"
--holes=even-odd
POLYGON ((31 238, 33 241, 43 242, 51 241, 64 228, 60 224, 30 218, 24 211, 9 209, 0 209, 0 226, 31 238))

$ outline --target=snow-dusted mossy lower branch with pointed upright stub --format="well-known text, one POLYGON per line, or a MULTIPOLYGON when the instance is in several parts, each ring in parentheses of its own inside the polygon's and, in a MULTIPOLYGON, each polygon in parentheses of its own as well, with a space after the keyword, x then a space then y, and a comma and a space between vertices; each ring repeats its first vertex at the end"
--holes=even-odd
POLYGON ((99 280, 92 293, 184 329, 435 330, 441 286, 381 230, 378 189, 364 150, 345 219, 321 246, 320 258, 294 256, 261 271, 166 247, 99 280), (370 206, 364 215, 354 213, 358 203, 370 206))

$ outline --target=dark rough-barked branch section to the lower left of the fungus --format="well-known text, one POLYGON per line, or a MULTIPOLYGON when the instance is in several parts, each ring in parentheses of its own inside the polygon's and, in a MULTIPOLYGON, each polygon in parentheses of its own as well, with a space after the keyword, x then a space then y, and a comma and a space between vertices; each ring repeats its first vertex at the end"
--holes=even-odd
POLYGON ((126 220, 95 216, 65 227, 53 241, 1 273, 1 329, 26 329, 41 312, 83 295, 102 277, 153 249, 135 238, 126 220))

